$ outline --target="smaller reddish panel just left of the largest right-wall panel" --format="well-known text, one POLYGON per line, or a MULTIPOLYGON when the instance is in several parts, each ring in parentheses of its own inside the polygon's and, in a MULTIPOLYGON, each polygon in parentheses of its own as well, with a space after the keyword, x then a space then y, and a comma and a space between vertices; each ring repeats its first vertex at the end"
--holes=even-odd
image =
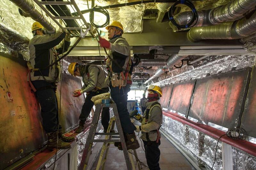
POLYGON ((188 115, 195 82, 196 80, 193 80, 173 85, 172 96, 168 110, 188 115))

